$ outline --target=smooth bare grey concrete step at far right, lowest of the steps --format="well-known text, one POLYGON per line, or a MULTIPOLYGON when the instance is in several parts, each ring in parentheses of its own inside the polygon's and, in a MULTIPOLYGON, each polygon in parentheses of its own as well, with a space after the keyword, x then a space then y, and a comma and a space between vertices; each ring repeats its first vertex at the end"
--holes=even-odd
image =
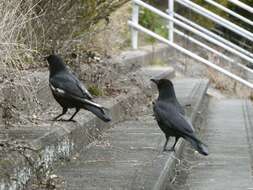
POLYGON ((185 189, 253 189, 252 116, 251 101, 210 101, 203 137, 210 155, 195 160, 185 189))

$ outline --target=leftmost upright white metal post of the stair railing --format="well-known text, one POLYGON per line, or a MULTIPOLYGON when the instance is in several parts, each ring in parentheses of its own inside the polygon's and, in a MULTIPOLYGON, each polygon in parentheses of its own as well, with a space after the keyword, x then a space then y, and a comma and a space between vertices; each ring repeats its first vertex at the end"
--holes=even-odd
MULTIPOLYGON (((132 13, 132 21, 135 24, 139 24, 139 5, 135 2, 132 4, 133 6, 133 13, 132 13)), ((132 48, 138 48, 138 30, 132 27, 132 48)))

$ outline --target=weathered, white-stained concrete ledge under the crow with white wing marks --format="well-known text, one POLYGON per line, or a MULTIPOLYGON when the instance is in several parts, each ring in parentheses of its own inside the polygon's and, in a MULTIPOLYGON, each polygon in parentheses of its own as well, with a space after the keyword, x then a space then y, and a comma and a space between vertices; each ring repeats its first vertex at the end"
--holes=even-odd
MULTIPOLYGON (((137 107, 135 105, 142 105, 147 103, 147 99, 143 98, 143 92, 140 89, 132 88, 132 91, 127 95, 119 95, 116 98, 107 99, 103 101, 112 114, 110 124, 100 121, 91 113, 80 113, 76 120, 77 123, 66 122, 47 122, 49 126, 40 128, 24 128, 24 129, 10 129, 2 130, 0 136, 27 141, 27 143, 36 150, 39 150, 37 155, 31 154, 31 159, 36 160, 34 164, 44 163, 45 168, 49 168, 54 162, 59 159, 67 159, 69 156, 84 149, 90 142, 98 138, 102 132, 111 127, 111 125, 127 119, 135 115, 138 109, 131 109, 137 107)), ((33 176, 33 168, 26 162, 24 157, 18 154, 12 154, 16 157, 14 162, 7 164, 1 163, 1 168, 12 168, 9 175, 15 181, 2 179, 1 190, 19 189, 21 184, 33 176)))

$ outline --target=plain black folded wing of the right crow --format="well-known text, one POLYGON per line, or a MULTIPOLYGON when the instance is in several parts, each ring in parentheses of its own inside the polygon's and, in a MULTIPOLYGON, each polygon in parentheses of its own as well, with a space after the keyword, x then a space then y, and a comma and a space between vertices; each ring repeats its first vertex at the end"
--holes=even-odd
POLYGON ((173 128, 173 130, 177 130, 182 134, 194 132, 192 125, 179 113, 172 103, 156 101, 154 104, 154 114, 157 121, 173 128))

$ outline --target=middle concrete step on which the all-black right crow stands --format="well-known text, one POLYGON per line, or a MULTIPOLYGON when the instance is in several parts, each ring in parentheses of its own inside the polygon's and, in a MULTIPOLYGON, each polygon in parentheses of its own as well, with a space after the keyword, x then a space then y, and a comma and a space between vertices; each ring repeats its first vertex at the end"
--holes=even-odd
MULTIPOLYGON (((174 84, 179 101, 190 105, 187 117, 193 121, 208 81, 188 78, 174 80, 174 84)), ((165 189, 173 175, 175 154, 162 152, 164 141, 149 107, 137 119, 109 129, 101 140, 60 166, 57 175, 64 178, 67 190, 165 189)), ((176 156, 183 145, 179 141, 176 156)))

